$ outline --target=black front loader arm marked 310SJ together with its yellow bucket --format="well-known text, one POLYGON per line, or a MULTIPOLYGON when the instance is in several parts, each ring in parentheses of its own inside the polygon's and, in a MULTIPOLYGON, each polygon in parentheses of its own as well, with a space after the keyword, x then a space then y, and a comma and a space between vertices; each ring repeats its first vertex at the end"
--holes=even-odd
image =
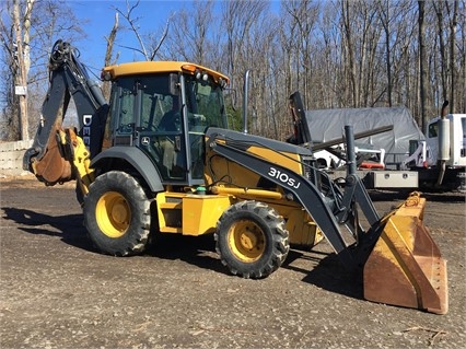
MULTIPOLYGON (((342 265, 361 271, 366 300, 445 314, 448 307, 446 261, 422 223, 426 199, 411 195, 397 209, 380 218, 356 175, 352 127, 347 126, 345 131, 348 153, 345 193, 328 178, 325 182, 323 173, 317 172, 323 177, 316 177, 316 171, 310 168, 311 164, 304 159, 310 154, 305 148, 302 152, 295 149, 302 154, 303 167, 308 167, 303 171, 305 175, 301 175, 248 152, 253 143, 258 146, 260 138, 249 136, 246 141, 237 132, 214 128, 209 128, 206 136, 213 152, 275 183, 288 200, 301 203, 342 265), (371 225, 366 231, 359 224, 356 203, 371 225), (345 230, 356 242, 346 242, 345 230)), ((271 146, 278 148, 277 143, 271 146)))

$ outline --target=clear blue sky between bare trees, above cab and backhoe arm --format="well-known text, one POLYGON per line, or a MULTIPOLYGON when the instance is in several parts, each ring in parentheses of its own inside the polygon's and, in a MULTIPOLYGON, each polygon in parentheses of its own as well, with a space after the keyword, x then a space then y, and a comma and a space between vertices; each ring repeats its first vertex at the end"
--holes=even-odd
MULTIPOLYGON (((81 61, 91 68, 92 72, 100 74, 104 62, 106 50, 105 38, 108 36, 115 21, 115 8, 126 12, 125 0, 67 0, 78 21, 86 33, 82 40, 71 43, 81 54, 81 61)), ((130 1, 135 4, 136 1, 130 1)), ((133 18, 140 18, 138 24, 140 33, 147 34, 151 31, 159 37, 173 12, 189 8, 191 1, 167 1, 167 0, 141 0, 133 12, 133 18)), ((127 21, 119 15, 119 26, 128 27, 127 21)), ((119 51, 118 62, 144 59, 142 55, 135 54, 133 50, 121 46, 132 46, 139 48, 139 44, 132 31, 119 31, 117 34, 115 50, 119 51), (135 56, 137 55, 137 56, 135 56)))

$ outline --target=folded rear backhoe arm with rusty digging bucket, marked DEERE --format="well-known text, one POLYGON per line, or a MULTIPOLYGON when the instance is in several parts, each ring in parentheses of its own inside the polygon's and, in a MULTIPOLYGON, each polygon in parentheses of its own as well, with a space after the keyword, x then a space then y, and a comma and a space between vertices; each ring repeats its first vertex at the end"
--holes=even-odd
POLYGON ((92 159, 102 149, 108 105, 78 56, 68 43, 54 45, 39 125, 23 158, 23 168, 47 185, 82 176, 73 164, 75 158, 92 159), (78 132, 62 128, 71 97, 78 112, 78 132))

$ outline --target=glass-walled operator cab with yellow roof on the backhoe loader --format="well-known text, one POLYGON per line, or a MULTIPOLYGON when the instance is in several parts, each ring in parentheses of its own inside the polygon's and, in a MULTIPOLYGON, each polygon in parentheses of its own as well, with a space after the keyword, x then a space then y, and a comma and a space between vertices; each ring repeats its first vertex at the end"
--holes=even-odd
POLYGON ((190 63, 163 69, 175 63, 128 63, 138 73, 113 77, 109 133, 113 146, 140 148, 164 185, 202 185, 206 129, 226 128, 228 79, 190 63), (148 63, 152 71, 144 70, 148 63))

